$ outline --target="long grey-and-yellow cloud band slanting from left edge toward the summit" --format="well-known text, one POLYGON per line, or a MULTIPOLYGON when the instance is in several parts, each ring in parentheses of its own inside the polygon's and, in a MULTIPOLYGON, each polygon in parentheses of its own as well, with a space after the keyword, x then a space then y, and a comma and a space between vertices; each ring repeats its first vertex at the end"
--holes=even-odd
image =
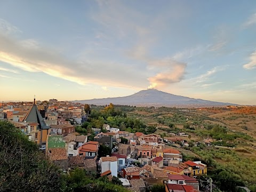
POLYGON ((0 61, 30 72, 43 72, 81 85, 97 84, 142 89, 147 84, 146 72, 130 67, 129 63, 101 60, 74 61, 47 47, 28 46, 14 38, 0 34, 0 61), (129 79, 129 81, 127 81, 129 79))

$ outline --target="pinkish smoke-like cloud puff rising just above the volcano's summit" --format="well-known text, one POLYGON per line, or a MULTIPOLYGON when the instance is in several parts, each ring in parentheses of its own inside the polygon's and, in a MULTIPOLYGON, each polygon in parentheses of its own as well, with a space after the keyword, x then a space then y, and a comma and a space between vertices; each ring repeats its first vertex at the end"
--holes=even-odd
POLYGON ((162 68, 162 72, 148 78, 150 82, 148 89, 180 82, 183 79, 187 67, 187 63, 174 61, 170 58, 156 60, 150 64, 154 67, 162 68))

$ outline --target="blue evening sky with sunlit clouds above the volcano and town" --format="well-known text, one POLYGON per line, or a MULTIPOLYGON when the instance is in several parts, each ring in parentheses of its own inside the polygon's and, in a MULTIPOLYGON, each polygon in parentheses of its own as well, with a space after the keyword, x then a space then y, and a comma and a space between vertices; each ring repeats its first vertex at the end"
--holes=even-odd
POLYGON ((256 1, 0 1, 0 100, 256 105, 255 34, 256 1))

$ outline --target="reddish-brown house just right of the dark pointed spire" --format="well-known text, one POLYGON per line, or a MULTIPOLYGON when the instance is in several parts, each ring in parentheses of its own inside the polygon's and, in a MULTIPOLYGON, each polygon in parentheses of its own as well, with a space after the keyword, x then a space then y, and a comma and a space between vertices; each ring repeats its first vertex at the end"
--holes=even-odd
POLYGON ((68 133, 74 133, 76 131, 75 126, 69 123, 61 124, 61 125, 50 125, 50 127, 51 127, 51 134, 62 135, 63 137, 68 135, 68 133))

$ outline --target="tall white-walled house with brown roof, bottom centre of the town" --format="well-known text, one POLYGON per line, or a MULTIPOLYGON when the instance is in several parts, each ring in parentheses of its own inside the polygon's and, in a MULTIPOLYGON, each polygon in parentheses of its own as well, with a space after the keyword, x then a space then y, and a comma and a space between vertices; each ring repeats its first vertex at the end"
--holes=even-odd
POLYGON ((101 174, 106 171, 111 171, 111 175, 117 177, 117 158, 113 157, 100 157, 101 174))

